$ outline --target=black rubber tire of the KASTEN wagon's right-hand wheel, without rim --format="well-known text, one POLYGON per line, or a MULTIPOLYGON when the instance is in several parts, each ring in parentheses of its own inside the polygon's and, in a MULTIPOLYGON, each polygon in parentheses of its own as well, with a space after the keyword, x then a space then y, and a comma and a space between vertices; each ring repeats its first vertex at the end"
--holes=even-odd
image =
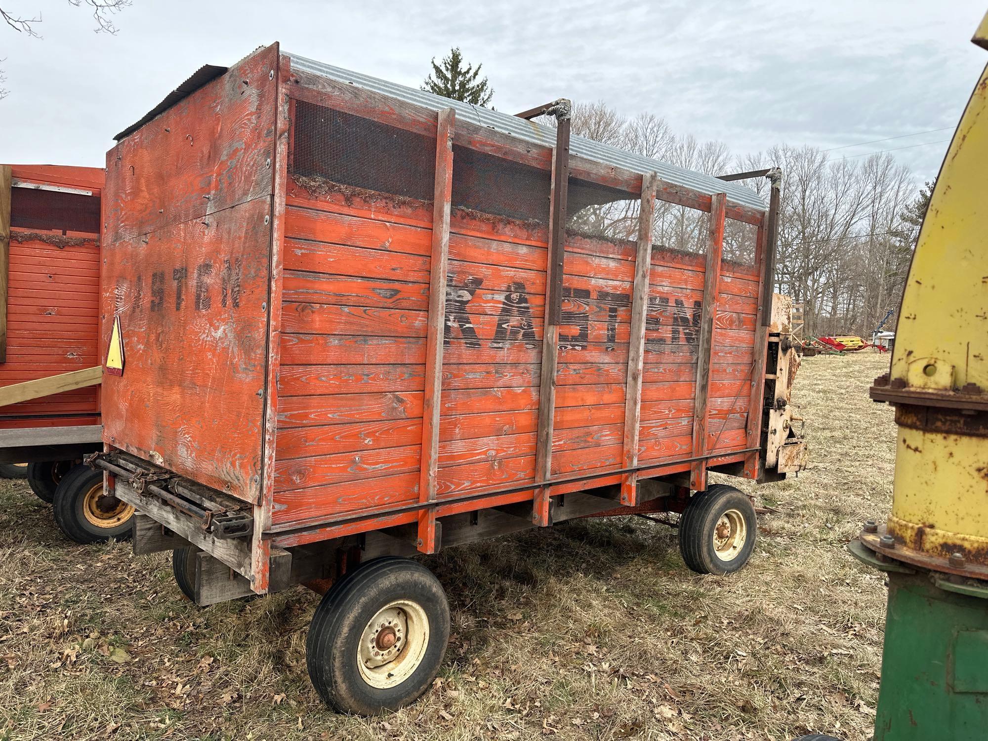
POLYGON ((747 495, 726 484, 713 484, 693 495, 679 523, 680 553, 686 565, 698 574, 732 574, 742 568, 755 548, 758 522, 755 507, 747 495), (717 521, 729 510, 744 519, 746 538, 734 558, 724 560, 713 545, 717 521))

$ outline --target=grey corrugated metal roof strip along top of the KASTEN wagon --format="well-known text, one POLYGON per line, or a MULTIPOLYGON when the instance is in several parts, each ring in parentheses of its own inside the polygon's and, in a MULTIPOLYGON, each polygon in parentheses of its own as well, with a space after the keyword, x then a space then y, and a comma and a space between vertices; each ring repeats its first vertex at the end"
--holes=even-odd
MULTIPOLYGON (((356 85, 357 87, 371 90, 375 93, 389 95, 392 98, 398 98, 433 111, 452 107, 456 110, 457 117, 473 124, 493 128, 502 133, 507 133, 516 138, 543 146, 551 147, 555 144, 555 129, 549 126, 535 124, 524 119, 519 119, 517 116, 510 116, 509 114, 503 114, 498 111, 472 106, 468 103, 453 101, 424 90, 416 90, 415 88, 405 87, 404 85, 387 82, 386 80, 379 80, 370 75, 352 72, 341 67, 334 67, 331 64, 308 59, 304 56, 289 53, 288 51, 284 53, 291 57, 291 65, 293 67, 304 70, 305 72, 356 85)), ((632 154, 615 146, 602 144, 583 136, 572 137, 570 140, 570 153, 597 162, 622 167, 632 172, 645 174, 655 171, 663 180, 679 186, 693 188, 708 196, 714 193, 726 193, 728 199, 742 206, 750 206, 760 210, 764 210, 766 207, 765 202, 757 193, 737 183, 717 180, 710 175, 687 170, 650 157, 643 157, 639 154, 632 154)))

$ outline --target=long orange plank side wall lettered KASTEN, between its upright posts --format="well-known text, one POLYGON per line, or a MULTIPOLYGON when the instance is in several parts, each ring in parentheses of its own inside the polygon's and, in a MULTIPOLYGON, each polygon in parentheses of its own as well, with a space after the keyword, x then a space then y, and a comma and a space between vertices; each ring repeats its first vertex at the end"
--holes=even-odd
MULTIPOLYGON (((434 245, 437 114, 305 73, 292 79, 276 533, 419 502, 434 245)), ((516 500, 535 496, 550 165, 549 151, 486 140, 469 124, 454 134, 439 503, 499 488, 512 489, 516 500)), ((640 198, 582 180, 573 188, 588 207, 616 194, 628 203, 640 198)), ((635 244, 581 231, 580 218, 571 216, 565 235, 550 401, 553 478, 623 466, 635 244)), ((703 255, 656 246, 647 275, 637 459, 655 467, 691 457, 740 459, 754 358, 754 268, 725 264, 704 296, 703 255), (709 425, 698 448, 704 299, 714 307, 716 332, 709 425)), ((567 488, 600 483, 591 476, 567 488)), ((401 520, 413 518, 405 512, 401 520)), ((376 526, 368 517, 363 527, 376 526)))

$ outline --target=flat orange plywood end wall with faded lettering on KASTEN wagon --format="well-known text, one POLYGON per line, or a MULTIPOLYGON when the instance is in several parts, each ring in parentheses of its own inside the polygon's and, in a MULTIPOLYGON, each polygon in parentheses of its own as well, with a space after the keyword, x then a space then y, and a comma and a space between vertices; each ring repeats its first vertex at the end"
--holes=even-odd
POLYGON ((107 156, 105 440, 259 502, 267 393, 277 45, 107 156))

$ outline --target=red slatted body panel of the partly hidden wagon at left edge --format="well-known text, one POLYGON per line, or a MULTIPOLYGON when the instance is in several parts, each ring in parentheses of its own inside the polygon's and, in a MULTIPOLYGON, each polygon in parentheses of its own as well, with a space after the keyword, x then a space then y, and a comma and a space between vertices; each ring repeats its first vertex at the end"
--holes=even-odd
MULTIPOLYGON (((9 199, 10 223, 2 267, 0 386, 99 366, 103 170, 57 165, 3 169, 9 173, 0 188, 9 199)), ((2 429, 99 423, 98 385, 0 407, 2 429)))

